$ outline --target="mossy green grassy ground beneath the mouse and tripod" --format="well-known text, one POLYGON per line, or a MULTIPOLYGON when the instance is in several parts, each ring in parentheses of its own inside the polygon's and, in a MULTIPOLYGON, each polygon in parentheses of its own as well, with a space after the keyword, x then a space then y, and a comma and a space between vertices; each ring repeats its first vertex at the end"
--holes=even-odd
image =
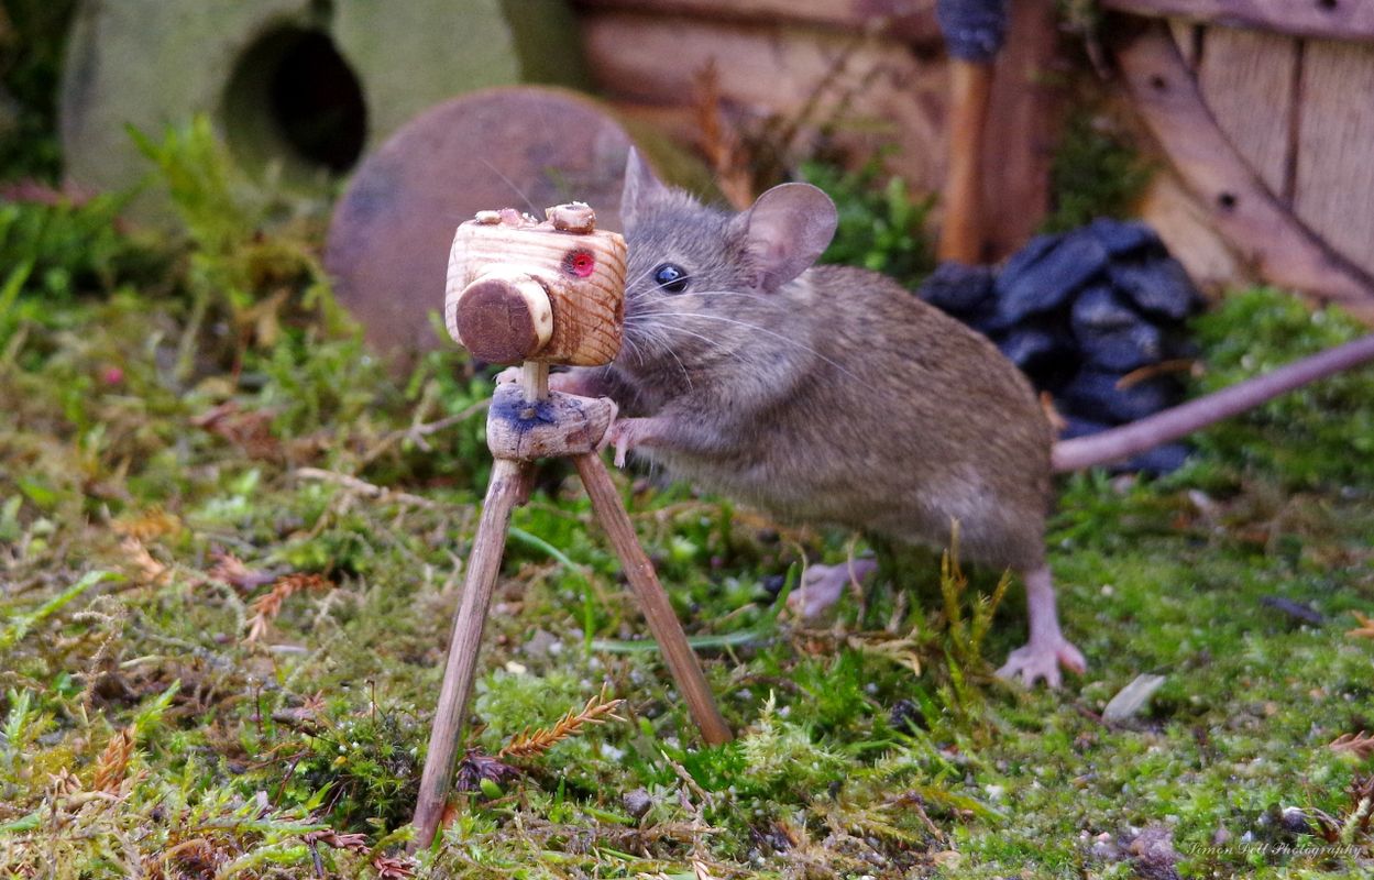
MULTIPOLYGON (((1330 745, 1374 730, 1374 640, 1351 634, 1374 605, 1367 372, 1206 432, 1167 479, 1062 483, 1051 561, 1091 669, 1061 692, 991 677, 1024 638, 1002 572, 918 555, 910 589, 804 629, 780 596, 848 535, 618 476, 741 734, 716 748, 544 468, 462 791, 405 855, 491 387, 452 349, 389 376, 305 242, 192 235, 153 279, 111 259, 47 308, 27 273, 0 298, 0 876, 1370 869, 1374 750, 1330 745), (254 310, 257 286, 287 294, 254 310), (1105 722, 1142 674, 1162 688, 1105 722)), ((1238 294, 1198 327, 1201 384, 1355 332, 1238 294)))

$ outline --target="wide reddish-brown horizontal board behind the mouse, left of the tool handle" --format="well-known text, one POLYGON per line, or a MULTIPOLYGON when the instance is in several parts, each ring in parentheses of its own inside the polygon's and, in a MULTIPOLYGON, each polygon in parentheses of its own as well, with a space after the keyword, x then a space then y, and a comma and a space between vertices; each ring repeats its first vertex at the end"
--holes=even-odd
POLYGON ((731 113, 833 122, 834 140, 859 155, 896 144, 888 166, 912 189, 944 178, 948 71, 901 43, 614 10, 588 10, 583 37, 594 78, 618 103, 690 106, 695 74, 713 63, 731 113))

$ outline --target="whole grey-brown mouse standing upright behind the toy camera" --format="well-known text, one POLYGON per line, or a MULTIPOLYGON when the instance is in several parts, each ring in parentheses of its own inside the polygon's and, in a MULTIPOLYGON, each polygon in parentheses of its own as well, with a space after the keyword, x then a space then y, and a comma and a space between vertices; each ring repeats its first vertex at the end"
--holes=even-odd
MULTIPOLYGON (((1374 360, 1374 336, 1138 423, 1055 442, 1025 375, 984 335, 866 269, 816 265, 837 210, 787 183, 734 213, 665 185, 633 150, 620 209, 628 244, 614 361, 551 376, 610 397, 605 443, 669 476, 791 523, 943 548, 1013 570, 1028 640, 998 669, 1058 688, 1083 674, 1046 559, 1052 475, 1125 459, 1331 372, 1374 360)), ((794 605, 818 616, 867 559, 811 566, 794 605)))

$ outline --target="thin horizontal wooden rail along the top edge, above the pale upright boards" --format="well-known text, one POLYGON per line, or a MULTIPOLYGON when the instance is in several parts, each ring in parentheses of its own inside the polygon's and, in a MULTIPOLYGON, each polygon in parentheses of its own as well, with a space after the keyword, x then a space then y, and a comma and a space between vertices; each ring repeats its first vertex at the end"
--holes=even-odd
POLYGON ((1374 40, 1369 0, 1099 0, 1136 15, 1186 18, 1208 25, 1260 27, 1296 37, 1374 40))

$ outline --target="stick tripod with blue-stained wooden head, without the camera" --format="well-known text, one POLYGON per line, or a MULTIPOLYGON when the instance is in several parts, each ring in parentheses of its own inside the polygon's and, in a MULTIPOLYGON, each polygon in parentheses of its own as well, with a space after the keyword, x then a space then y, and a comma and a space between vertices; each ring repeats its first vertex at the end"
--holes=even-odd
POLYGON ((438 710, 430 733, 425 774, 414 825, 416 844, 426 847, 434 839, 453 776, 453 759, 467 714, 467 702, 477 671, 486 612, 500 572, 502 553, 511 511, 529 497, 533 463, 537 459, 570 457, 577 475, 591 496, 592 511, 606 529, 635 599, 649 621, 649 629, 664 651, 668 669, 687 700, 702 739, 710 744, 727 743, 730 728, 716 708, 697 656, 682 623, 673 614, 653 564, 639 546, 629 515, 621 504, 606 465, 596 454, 614 416, 616 406, 606 398, 573 397, 548 390, 548 365, 526 361, 518 384, 499 386, 492 398, 486 421, 486 445, 496 459, 486 501, 477 526, 473 552, 467 559, 463 599, 453 616, 453 636, 444 669, 438 710))

